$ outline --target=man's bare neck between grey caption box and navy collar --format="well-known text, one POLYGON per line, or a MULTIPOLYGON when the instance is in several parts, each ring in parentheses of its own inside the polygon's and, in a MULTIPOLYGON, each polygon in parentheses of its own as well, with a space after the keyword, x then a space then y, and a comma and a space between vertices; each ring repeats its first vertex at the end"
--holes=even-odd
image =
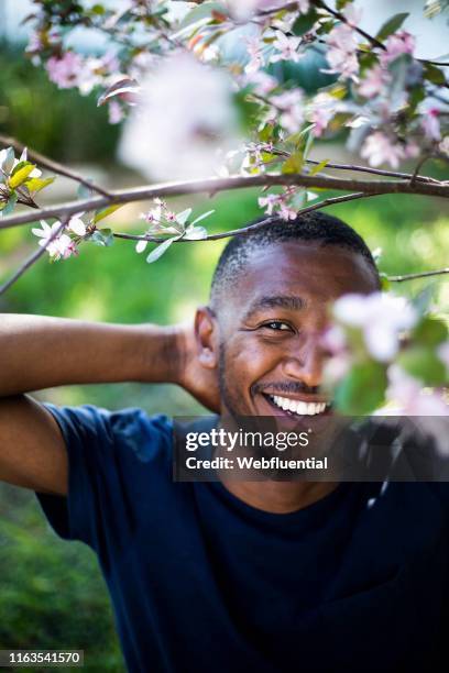
POLYGON ((335 490, 338 482, 238 482, 221 478, 240 500, 273 514, 289 514, 317 503, 335 490))

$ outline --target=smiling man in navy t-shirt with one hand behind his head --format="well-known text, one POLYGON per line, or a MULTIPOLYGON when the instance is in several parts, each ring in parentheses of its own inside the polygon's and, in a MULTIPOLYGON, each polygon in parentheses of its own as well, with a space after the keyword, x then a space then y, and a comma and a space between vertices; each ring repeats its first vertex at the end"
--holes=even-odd
POLYGON ((0 478, 96 552, 130 671, 446 670, 446 484, 175 483, 166 417, 24 395, 166 382, 221 418, 319 422, 329 304, 379 285, 363 240, 315 213, 233 239, 194 329, 2 317, 0 478))

